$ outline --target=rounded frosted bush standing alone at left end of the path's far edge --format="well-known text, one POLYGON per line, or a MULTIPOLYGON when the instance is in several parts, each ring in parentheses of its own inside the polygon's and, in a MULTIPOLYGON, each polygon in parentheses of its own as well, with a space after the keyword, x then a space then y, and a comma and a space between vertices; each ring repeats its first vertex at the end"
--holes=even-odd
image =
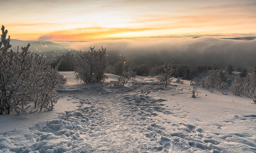
POLYGON ((106 79, 105 68, 107 67, 106 48, 88 52, 80 52, 78 56, 78 67, 75 68, 76 79, 80 79, 86 84, 103 82, 106 79))

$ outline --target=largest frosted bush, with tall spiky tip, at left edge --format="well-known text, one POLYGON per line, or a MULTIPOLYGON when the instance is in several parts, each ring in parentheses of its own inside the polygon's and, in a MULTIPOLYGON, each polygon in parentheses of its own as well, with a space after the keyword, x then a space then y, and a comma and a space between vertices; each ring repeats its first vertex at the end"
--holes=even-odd
POLYGON ((0 114, 10 114, 14 109, 18 114, 27 113, 31 103, 40 105, 40 110, 53 109, 57 101, 56 88, 65 79, 56 68, 50 68, 45 59, 29 52, 29 46, 21 47, 21 52, 9 50, 10 36, 1 28, 0 42, 0 114), (2 47, 3 45, 3 47, 2 47))

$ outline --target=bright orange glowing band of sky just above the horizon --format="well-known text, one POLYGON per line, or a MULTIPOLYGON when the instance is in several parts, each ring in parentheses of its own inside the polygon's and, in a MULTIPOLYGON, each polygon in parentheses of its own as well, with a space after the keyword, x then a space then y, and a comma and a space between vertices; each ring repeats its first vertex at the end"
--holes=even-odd
MULTIPOLYGON (((6 28, 7 29, 7 28, 6 28)), ((40 34, 38 32, 13 32, 8 30, 8 36, 11 39, 19 40, 42 40, 42 41, 90 41, 94 39, 133 39, 145 37, 194 37, 194 36, 212 36, 212 37, 241 37, 255 36, 256 33, 249 33, 246 29, 238 31, 229 31, 230 33, 214 33, 204 32, 204 28, 200 28, 195 33, 189 33, 189 28, 76 28, 67 31, 53 31, 49 34, 40 34), (183 31, 183 33, 182 33, 183 31)))

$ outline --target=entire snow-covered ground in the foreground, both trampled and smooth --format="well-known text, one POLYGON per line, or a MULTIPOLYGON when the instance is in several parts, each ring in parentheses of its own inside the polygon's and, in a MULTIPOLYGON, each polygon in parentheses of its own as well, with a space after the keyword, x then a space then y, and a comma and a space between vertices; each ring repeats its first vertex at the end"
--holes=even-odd
POLYGON ((186 80, 163 90, 153 76, 116 87, 61 74, 53 111, 0 116, 0 152, 256 152, 250 98, 201 87, 191 98, 186 80))

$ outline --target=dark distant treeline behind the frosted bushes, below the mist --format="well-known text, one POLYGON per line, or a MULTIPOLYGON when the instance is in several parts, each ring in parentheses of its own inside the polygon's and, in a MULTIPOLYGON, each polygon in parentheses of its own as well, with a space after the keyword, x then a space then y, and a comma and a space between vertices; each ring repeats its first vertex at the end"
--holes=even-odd
MULTIPOLYGON (((161 74, 163 71, 162 64, 153 65, 152 62, 148 60, 145 60, 143 63, 138 64, 134 61, 127 61, 127 58, 125 58, 123 55, 119 55, 118 52, 106 54, 106 59, 108 61, 108 64, 105 72, 108 74, 122 75, 129 78, 135 75, 158 75, 161 74)), ((59 63, 59 61, 61 61, 59 71, 75 71, 75 68, 78 66, 78 57, 71 52, 67 52, 64 55, 57 56, 55 60, 50 61, 50 65, 54 68, 57 63, 59 63)), ((163 61, 163 63, 164 62, 165 61, 163 61)), ((188 63, 173 63, 172 68, 174 77, 182 77, 184 79, 194 79, 197 74, 200 74, 203 71, 221 69, 217 64, 214 64, 212 66, 193 66, 188 63)), ((241 76, 246 76, 246 74, 248 73, 246 68, 237 67, 236 69, 233 69, 233 66, 231 66, 230 64, 227 65, 225 70, 227 71, 227 73, 232 73, 232 71, 240 71, 242 72, 241 76)))

